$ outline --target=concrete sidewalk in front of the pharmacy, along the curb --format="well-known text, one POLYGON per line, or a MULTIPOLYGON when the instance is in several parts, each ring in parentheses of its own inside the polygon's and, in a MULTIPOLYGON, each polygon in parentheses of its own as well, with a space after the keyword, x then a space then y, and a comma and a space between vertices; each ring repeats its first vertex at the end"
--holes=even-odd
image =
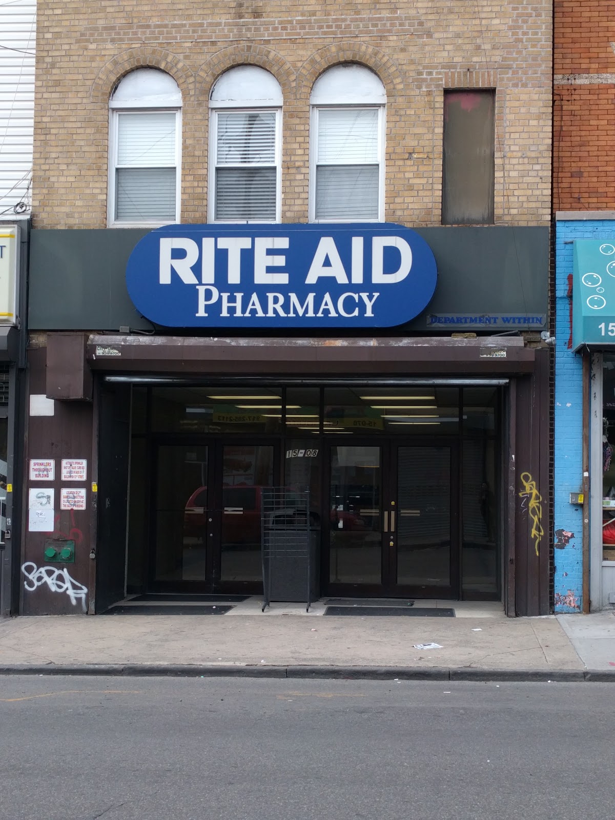
POLYGON ((430 676, 615 681, 613 613, 507 618, 499 605, 456 617, 321 617, 260 599, 221 616, 101 615, 0 620, 0 672, 430 676), (440 649, 416 649, 436 643, 440 649))

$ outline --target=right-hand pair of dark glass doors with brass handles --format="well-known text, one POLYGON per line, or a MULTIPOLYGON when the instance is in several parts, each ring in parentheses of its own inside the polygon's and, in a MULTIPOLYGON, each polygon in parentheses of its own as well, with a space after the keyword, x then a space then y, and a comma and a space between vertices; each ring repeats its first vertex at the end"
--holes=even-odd
POLYGON ((454 445, 332 444, 328 469, 331 593, 457 594, 454 445))

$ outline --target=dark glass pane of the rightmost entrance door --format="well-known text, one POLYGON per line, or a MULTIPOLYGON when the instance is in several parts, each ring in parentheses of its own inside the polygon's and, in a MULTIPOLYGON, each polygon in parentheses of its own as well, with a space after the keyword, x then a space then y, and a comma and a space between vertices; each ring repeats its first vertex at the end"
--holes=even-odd
POLYGON ((451 449, 399 447, 397 583, 450 587, 451 449))

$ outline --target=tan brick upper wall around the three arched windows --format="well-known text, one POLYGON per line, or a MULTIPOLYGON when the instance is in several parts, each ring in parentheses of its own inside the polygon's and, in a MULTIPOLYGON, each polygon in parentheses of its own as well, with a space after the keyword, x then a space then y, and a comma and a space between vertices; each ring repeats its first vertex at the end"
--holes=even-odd
POLYGON ((207 99, 254 63, 284 92, 282 219, 307 221, 309 94, 360 62, 387 91, 385 218, 440 224, 445 88, 496 88, 495 221, 549 224, 550 0, 39 0, 34 225, 107 224, 108 99, 157 66, 183 93, 181 219, 207 220, 207 99))

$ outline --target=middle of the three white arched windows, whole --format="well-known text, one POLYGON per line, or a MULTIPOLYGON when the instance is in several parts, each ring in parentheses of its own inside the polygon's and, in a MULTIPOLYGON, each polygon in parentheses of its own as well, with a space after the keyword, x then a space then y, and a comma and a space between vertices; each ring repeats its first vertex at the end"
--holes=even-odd
POLYGON ((216 80, 209 106, 210 220, 280 221, 280 84, 236 66, 216 80))

